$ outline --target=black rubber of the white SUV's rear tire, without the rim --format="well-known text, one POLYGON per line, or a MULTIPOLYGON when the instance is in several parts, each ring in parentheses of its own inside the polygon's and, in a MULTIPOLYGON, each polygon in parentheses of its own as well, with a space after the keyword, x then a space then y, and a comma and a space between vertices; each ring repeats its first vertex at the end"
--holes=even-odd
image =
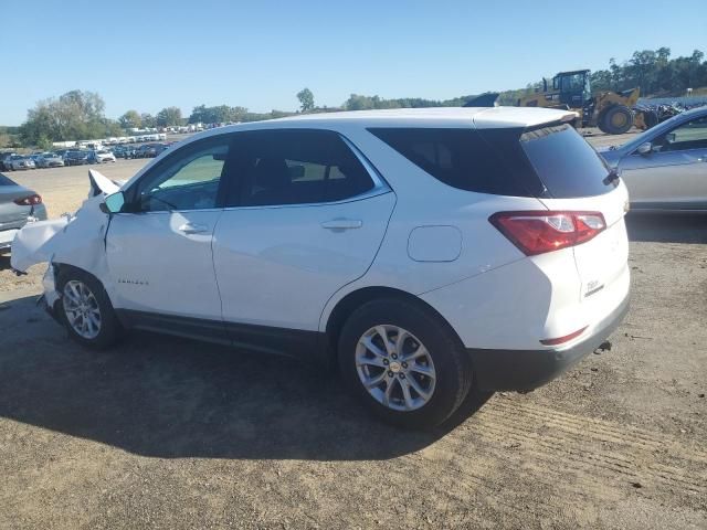
POLYGON ((357 309, 341 330, 338 359, 341 375, 351 392, 382 420, 407 428, 432 428, 444 422, 458 409, 472 382, 469 359, 449 325, 432 311, 405 300, 374 300, 357 309), (356 369, 356 347, 360 337, 377 325, 404 328, 430 352, 436 382, 432 399, 421 409, 410 412, 388 409, 361 383, 356 369))

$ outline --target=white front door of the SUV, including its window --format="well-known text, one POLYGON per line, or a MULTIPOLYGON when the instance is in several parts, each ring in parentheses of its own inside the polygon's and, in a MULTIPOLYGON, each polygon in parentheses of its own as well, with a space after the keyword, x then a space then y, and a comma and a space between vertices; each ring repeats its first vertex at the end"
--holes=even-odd
POLYGON ((228 138, 170 153, 126 191, 125 213, 110 221, 106 254, 116 306, 136 327, 225 341, 211 244, 228 138))

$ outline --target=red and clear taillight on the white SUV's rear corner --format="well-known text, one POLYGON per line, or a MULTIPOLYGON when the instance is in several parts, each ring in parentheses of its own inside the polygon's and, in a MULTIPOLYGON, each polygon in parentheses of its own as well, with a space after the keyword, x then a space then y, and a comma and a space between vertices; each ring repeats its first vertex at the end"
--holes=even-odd
POLYGON ((585 243, 606 227, 601 212, 498 212, 488 221, 528 256, 585 243))

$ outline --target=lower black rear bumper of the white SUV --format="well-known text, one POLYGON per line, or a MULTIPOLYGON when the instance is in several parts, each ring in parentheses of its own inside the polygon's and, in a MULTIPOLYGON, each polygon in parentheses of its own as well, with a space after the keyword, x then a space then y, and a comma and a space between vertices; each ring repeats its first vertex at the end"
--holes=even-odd
POLYGON ((594 351, 621 324, 629 311, 629 297, 600 321, 581 342, 564 349, 487 350, 467 349, 476 385, 485 391, 528 391, 553 380, 594 351))

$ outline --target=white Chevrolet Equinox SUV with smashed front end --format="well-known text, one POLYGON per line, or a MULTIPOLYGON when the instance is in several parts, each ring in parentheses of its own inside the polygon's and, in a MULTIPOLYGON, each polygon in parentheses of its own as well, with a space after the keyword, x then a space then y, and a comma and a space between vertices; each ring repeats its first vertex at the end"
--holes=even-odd
POLYGON ((627 310, 626 189, 572 119, 436 108, 212 129, 22 231, 12 264, 50 261, 49 308, 83 344, 139 328, 336 360, 379 415, 436 425, 471 388, 551 380, 627 310))

